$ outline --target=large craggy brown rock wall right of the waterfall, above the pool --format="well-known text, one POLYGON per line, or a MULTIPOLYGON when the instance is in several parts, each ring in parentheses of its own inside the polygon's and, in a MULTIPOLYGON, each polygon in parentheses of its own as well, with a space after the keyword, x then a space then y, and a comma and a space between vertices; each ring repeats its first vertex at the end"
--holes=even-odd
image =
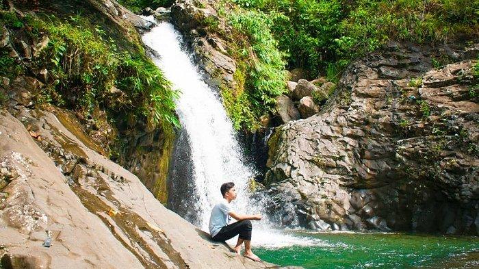
POLYGON ((274 132, 272 210, 296 208, 281 219, 478 234, 477 61, 457 51, 456 63, 433 69, 431 51, 392 43, 354 62, 320 114, 274 132))

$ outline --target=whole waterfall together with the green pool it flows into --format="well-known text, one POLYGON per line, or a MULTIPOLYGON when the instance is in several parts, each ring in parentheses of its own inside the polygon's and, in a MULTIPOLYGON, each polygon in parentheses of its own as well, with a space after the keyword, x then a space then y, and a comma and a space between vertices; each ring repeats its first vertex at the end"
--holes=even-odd
MULTIPOLYGON (((153 21, 153 17, 145 17, 153 21)), ((181 91, 177 114, 182 125, 174 155, 168 207, 207 231, 220 185, 234 181, 240 213, 263 213, 252 205, 248 182, 255 170, 244 164, 235 131, 216 90, 203 82, 192 56, 170 23, 158 23, 143 41, 159 57, 153 61, 181 91)), ((472 237, 400 233, 309 233, 273 229, 267 219, 253 222, 254 251, 266 261, 304 268, 479 268, 479 240, 472 237), (466 254, 469 253, 469 254, 466 254), (465 267, 464 267, 465 266, 465 267)), ((234 244, 235 239, 229 241, 234 244)))

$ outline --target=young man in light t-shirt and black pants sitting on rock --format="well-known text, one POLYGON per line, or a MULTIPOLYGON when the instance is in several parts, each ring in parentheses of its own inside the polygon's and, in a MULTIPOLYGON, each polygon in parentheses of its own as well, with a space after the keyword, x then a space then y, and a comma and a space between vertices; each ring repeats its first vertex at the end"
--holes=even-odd
POLYGON ((244 257, 261 261, 257 255, 251 251, 251 230, 253 226, 250 220, 261 220, 260 215, 239 215, 233 212, 229 203, 236 198, 235 183, 228 182, 221 185, 221 195, 223 198, 211 210, 209 218, 209 233, 215 241, 226 241, 236 235, 239 235, 238 242, 233 248, 239 254, 241 245, 244 242, 244 257), (229 220, 233 217, 237 222, 229 225, 229 220))

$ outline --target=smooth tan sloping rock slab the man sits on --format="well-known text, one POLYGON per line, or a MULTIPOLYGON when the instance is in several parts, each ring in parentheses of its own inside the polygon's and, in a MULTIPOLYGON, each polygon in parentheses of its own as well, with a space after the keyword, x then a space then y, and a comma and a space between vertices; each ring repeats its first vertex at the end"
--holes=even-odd
MULTIPOLYGON (((25 78, 25 81, 36 81, 25 78)), ((265 268, 216 244, 12 84, 0 111, 0 267, 265 268), (51 246, 42 246, 51 235, 51 246)))

